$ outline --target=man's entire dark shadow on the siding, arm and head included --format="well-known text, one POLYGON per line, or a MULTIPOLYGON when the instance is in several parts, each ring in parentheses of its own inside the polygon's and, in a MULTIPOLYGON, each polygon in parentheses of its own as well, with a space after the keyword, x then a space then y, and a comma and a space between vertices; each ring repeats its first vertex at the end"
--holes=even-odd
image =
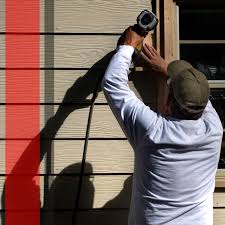
MULTIPOLYGON (((71 88, 69 88, 65 94, 62 104, 59 106, 57 112, 53 117, 51 117, 44 128, 41 130, 39 134, 37 134, 32 141, 27 145, 26 149, 19 160, 16 162, 14 168, 11 171, 11 174, 16 174, 18 171, 29 171, 29 176, 19 176, 17 177, 17 181, 15 180, 16 176, 7 176, 5 183, 9 186, 14 186, 16 183, 16 190, 13 192, 18 199, 20 198, 20 193, 26 193, 30 198, 38 199, 39 196, 39 185, 36 184, 35 179, 38 177, 40 162, 43 160, 44 155, 51 150, 52 141, 54 140, 58 130, 62 126, 63 122, 66 118, 72 113, 74 110, 84 108, 90 105, 94 99, 86 100, 87 96, 96 90, 96 92, 100 91, 100 81, 102 76, 105 73, 109 60, 111 59, 114 52, 110 52, 101 60, 99 60, 93 67, 83 76, 80 77, 71 88), (93 76, 93 74, 95 76, 93 76), (74 103, 81 104, 74 104, 74 103), (40 161, 33 163, 30 165, 30 168, 27 167, 27 162, 35 155, 35 152, 40 147, 40 161), (19 181, 19 182, 18 182, 19 181), (24 184, 27 184, 27 190, 24 190, 24 184), (19 196, 19 197, 18 197, 19 196)), ((41 224, 46 225, 45 219, 46 215, 47 220, 49 217, 53 217, 54 225, 69 225, 71 224, 71 216, 72 211, 64 212, 67 209, 71 209, 75 202, 75 195, 77 189, 77 181, 78 176, 61 176, 64 173, 74 173, 79 174, 80 172, 80 163, 72 164, 69 167, 66 167, 56 178, 54 179, 49 191, 49 199, 48 199, 48 208, 53 209, 52 212, 45 212, 45 204, 43 206, 43 210, 41 210, 41 224)), ((89 163, 86 163, 86 171, 90 174, 92 173, 92 166, 89 163)), ((15 186, 14 186, 15 187, 15 186)), ((15 189, 15 188, 14 188, 15 189)), ((93 221, 92 224, 115 224, 118 222, 115 217, 115 213, 113 210, 109 213, 109 210, 104 210, 98 213, 98 210, 91 210, 93 207, 93 199, 94 199, 94 186, 90 181, 90 176, 85 175, 84 184, 82 190, 85 190, 86 195, 82 195, 81 201, 85 202, 85 205, 88 206, 87 209, 80 210, 79 216, 77 218, 77 224, 90 224, 90 221, 93 221), (88 216, 87 216, 87 213, 88 216), (112 217, 110 217, 110 215, 112 217), (116 221, 115 221, 116 220, 116 221), (95 222, 94 222, 95 221, 95 222), (114 222, 113 222, 114 221, 114 222)), ((121 201, 129 202, 130 200, 130 190, 131 190, 131 179, 129 178, 125 184, 123 190, 118 194, 115 199, 109 201, 105 204, 103 208, 116 208, 120 206, 121 201)), ((21 194, 20 201, 24 201, 22 198, 23 194, 21 194)), ((7 198, 13 199, 13 196, 7 196, 7 198)), ((5 185, 4 190, 1 196, 2 207, 5 206, 5 185)), ((126 203, 129 205, 129 203, 126 203)), ((19 205, 15 205, 14 209, 19 209, 19 205)), ((127 223, 127 212, 128 209, 124 210, 124 215, 120 215, 121 224, 127 223)), ((13 212, 12 212, 13 213, 13 212)), ((121 214, 121 213, 120 213, 121 214)), ((25 218, 26 219, 26 218, 25 218)), ((1 222, 2 225, 5 224, 5 214, 1 214, 1 222)), ((48 223, 50 224, 50 223, 48 223)))

